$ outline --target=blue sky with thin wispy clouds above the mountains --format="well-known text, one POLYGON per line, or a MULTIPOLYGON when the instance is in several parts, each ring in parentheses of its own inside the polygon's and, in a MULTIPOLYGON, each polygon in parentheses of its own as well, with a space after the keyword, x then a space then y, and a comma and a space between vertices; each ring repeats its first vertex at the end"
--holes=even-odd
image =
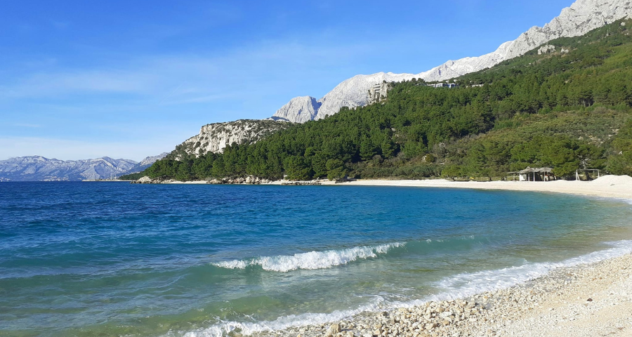
POLYGON ((572 2, 3 1, 0 160, 140 161, 356 74, 490 53, 572 2))

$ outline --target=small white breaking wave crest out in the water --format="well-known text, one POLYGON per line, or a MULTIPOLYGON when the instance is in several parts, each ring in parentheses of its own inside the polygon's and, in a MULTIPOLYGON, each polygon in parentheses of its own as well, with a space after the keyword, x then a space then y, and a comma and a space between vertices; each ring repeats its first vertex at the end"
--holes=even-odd
MULTIPOLYGON (((405 244, 405 243, 404 243, 405 244)), ((232 260, 213 263, 228 269, 245 269, 259 265, 263 270, 273 272, 289 272, 291 270, 326 269, 336 265, 345 265, 358 259, 376 258, 377 254, 387 253, 390 249, 404 246, 400 242, 381 244, 379 246, 358 246, 349 249, 331 251, 310 251, 294 255, 262 256, 251 260, 232 260)))

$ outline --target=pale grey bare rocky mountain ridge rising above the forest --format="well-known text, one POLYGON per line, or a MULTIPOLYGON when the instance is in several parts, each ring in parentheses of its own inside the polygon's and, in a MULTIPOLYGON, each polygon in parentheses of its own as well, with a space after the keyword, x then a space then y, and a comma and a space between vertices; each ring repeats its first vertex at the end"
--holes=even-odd
POLYGON ((559 37, 578 37, 591 30, 603 27, 608 22, 632 16, 632 1, 629 0, 577 0, 568 8, 564 8, 557 18, 548 22, 544 27, 532 27, 520 34, 518 39, 501 44, 496 51, 474 58, 449 60, 419 74, 393 74, 379 72, 371 75, 357 75, 338 84, 320 100, 310 96, 293 98, 284 105, 272 118, 303 123, 308 115, 311 119, 322 119, 336 114, 341 107, 359 107, 367 105, 367 93, 371 87, 382 81, 404 81, 413 78, 425 81, 445 81, 463 74, 478 72, 509 60, 536 46, 546 44, 559 37), (297 103, 303 104, 297 104, 297 103), (310 102, 311 110, 305 109, 310 102), (319 106, 320 105, 320 106, 319 106), (313 110, 313 111, 312 111, 313 110), (308 113, 306 114, 305 112, 308 113))

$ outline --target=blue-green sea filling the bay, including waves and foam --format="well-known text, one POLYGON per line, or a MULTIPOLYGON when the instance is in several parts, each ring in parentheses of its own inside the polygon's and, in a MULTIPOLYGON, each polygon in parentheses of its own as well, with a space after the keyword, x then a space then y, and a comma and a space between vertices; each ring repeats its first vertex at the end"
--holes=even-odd
POLYGON ((415 187, 0 183, 0 336, 226 336, 632 251, 632 204, 415 187))

